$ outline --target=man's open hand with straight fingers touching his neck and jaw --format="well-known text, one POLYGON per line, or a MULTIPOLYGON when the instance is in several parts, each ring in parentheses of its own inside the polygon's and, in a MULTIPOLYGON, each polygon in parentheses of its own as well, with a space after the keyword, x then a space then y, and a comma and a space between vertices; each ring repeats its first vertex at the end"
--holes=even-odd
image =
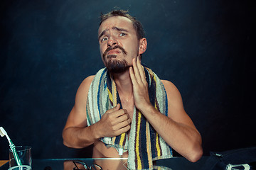
POLYGON ((132 66, 129 68, 129 74, 132 79, 134 103, 139 111, 142 111, 144 107, 151 106, 148 84, 139 57, 137 57, 137 61, 136 59, 132 60, 132 66))

